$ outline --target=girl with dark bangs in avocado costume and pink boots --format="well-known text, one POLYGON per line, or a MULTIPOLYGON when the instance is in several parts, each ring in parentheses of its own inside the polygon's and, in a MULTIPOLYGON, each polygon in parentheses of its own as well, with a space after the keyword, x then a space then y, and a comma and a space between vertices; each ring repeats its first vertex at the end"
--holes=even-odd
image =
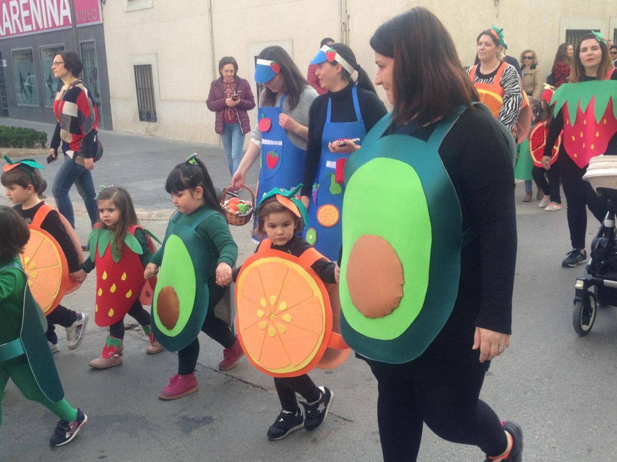
POLYGON ((165 190, 178 211, 144 276, 154 277, 160 267, 152 299, 152 329, 165 349, 178 352, 178 373, 159 392, 160 399, 171 400, 199 389, 195 367, 200 331, 225 348, 219 370, 233 368, 244 353, 230 326, 214 314, 231 283, 238 246, 212 179, 196 154, 173 168, 165 190))

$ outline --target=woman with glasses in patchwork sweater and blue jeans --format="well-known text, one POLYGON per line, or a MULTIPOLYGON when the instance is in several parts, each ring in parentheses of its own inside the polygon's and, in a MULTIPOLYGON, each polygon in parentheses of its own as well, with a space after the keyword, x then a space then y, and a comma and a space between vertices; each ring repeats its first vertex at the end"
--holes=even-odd
POLYGON ((54 101, 57 123, 49 150, 52 161, 56 161, 58 148, 62 144, 64 161, 54 178, 52 193, 58 211, 75 227, 73 204, 68 197, 74 184, 94 226, 99 219, 99 208, 94 200, 96 192, 90 171, 94 169, 94 146, 99 115, 88 90, 78 78, 83 70, 83 63, 77 53, 60 51, 54 56, 51 69, 54 77, 64 83, 54 101))

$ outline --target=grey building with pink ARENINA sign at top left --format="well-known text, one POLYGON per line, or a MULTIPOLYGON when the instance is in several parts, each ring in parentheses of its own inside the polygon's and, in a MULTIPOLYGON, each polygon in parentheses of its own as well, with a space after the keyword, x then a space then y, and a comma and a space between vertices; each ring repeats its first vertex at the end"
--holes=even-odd
MULTIPOLYGON (((74 4, 82 78, 97 103, 101 128, 112 129, 101 4, 74 4)), ((61 82, 51 63, 57 52, 75 49, 68 0, 0 0, 0 12, 0 116, 52 123, 61 82)))

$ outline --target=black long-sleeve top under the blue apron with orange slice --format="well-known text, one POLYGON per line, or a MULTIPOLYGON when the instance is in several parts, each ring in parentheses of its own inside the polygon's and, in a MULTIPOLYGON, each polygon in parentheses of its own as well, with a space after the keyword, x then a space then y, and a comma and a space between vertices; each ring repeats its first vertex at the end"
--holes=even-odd
MULTIPOLYGON (((323 126, 326 123, 326 115, 328 113, 328 99, 332 99, 331 122, 356 122, 358 120, 355 115, 354 97, 352 89, 355 87, 353 81, 342 90, 320 95, 310 107, 309 112, 309 142, 307 144, 307 156, 304 163, 304 186, 301 194, 309 196, 317 175, 317 166, 321 159, 321 136, 323 135, 323 126)), ((372 91, 357 87, 358 89, 358 105, 360 105, 360 115, 364 121, 366 133, 378 123, 381 118, 387 114, 386 106, 381 102, 379 97, 372 91)), ((334 140, 332 140, 334 141, 334 140)))

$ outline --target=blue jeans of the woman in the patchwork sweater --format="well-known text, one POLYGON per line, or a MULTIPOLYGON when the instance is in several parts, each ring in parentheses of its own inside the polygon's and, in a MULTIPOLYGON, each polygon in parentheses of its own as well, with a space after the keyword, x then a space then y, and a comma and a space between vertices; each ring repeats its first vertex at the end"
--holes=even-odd
POLYGON ((99 208, 96 205, 96 192, 94 192, 94 183, 89 170, 82 167, 77 162, 73 162, 69 156, 64 155, 64 161, 60 166, 59 171, 54 178, 54 186, 52 194, 56 199, 58 211, 64 215, 71 226, 75 227, 75 215, 73 214, 73 204, 71 203, 68 192, 75 185, 77 192, 80 193, 83 202, 86 205, 90 222, 94 224, 99 220, 99 208))

